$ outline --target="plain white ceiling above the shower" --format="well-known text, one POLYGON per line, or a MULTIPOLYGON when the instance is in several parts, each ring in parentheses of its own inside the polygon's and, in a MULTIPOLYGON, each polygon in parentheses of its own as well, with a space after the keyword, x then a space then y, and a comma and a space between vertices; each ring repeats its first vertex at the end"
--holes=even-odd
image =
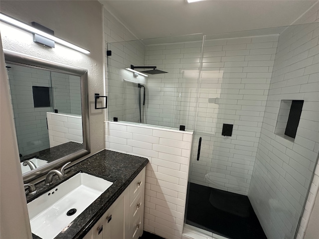
MULTIPOLYGON (((317 0, 204 0, 193 3, 187 3, 186 0, 99 1, 139 39, 193 33, 212 35, 287 26, 317 2, 317 0)), ((282 29, 284 28, 268 29, 265 32, 276 34, 282 29)))

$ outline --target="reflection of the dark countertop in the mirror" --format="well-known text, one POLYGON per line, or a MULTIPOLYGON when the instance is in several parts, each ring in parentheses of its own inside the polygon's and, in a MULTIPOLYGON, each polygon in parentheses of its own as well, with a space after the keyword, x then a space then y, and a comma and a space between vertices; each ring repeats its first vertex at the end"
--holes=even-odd
POLYGON ((81 149, 83 149, 82 143, 76 143, 76 142, 70 141, 67 143, 62 143, 60 145, 54 146, 52 148, 47 148, 39 152, 22 156, 20 157, 20 161, 22 162, 23 160, 37 157, 39 159, 46 160, 48 161, 48 163, 50 163, 56 159, 62 158, 66 155, 77 152, 81 149))

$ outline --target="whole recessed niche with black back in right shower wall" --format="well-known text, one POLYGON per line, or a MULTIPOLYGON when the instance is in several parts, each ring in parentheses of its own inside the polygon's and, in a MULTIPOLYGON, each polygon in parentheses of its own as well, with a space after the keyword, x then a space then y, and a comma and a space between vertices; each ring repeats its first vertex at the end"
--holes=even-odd
POLYGON ((303 100, 281 101, 275 134, 290 141, 295 141, 303 105, 303 100))

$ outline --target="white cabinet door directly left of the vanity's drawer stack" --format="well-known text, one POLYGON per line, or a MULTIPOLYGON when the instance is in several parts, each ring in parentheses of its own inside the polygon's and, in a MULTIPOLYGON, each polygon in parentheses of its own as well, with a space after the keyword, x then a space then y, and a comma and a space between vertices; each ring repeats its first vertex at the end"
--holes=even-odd
POLYGON ((114 204, 102 218, 103 239, 124 239, 124 196, 114 204))

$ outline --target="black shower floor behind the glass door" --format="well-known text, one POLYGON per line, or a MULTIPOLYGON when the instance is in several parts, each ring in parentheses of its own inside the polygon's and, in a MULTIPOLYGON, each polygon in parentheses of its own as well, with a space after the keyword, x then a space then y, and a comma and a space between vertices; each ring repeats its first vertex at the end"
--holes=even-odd
POLYGON ((189 187, 186 224, 229 239, 267 239, 247 196, 189 187))

